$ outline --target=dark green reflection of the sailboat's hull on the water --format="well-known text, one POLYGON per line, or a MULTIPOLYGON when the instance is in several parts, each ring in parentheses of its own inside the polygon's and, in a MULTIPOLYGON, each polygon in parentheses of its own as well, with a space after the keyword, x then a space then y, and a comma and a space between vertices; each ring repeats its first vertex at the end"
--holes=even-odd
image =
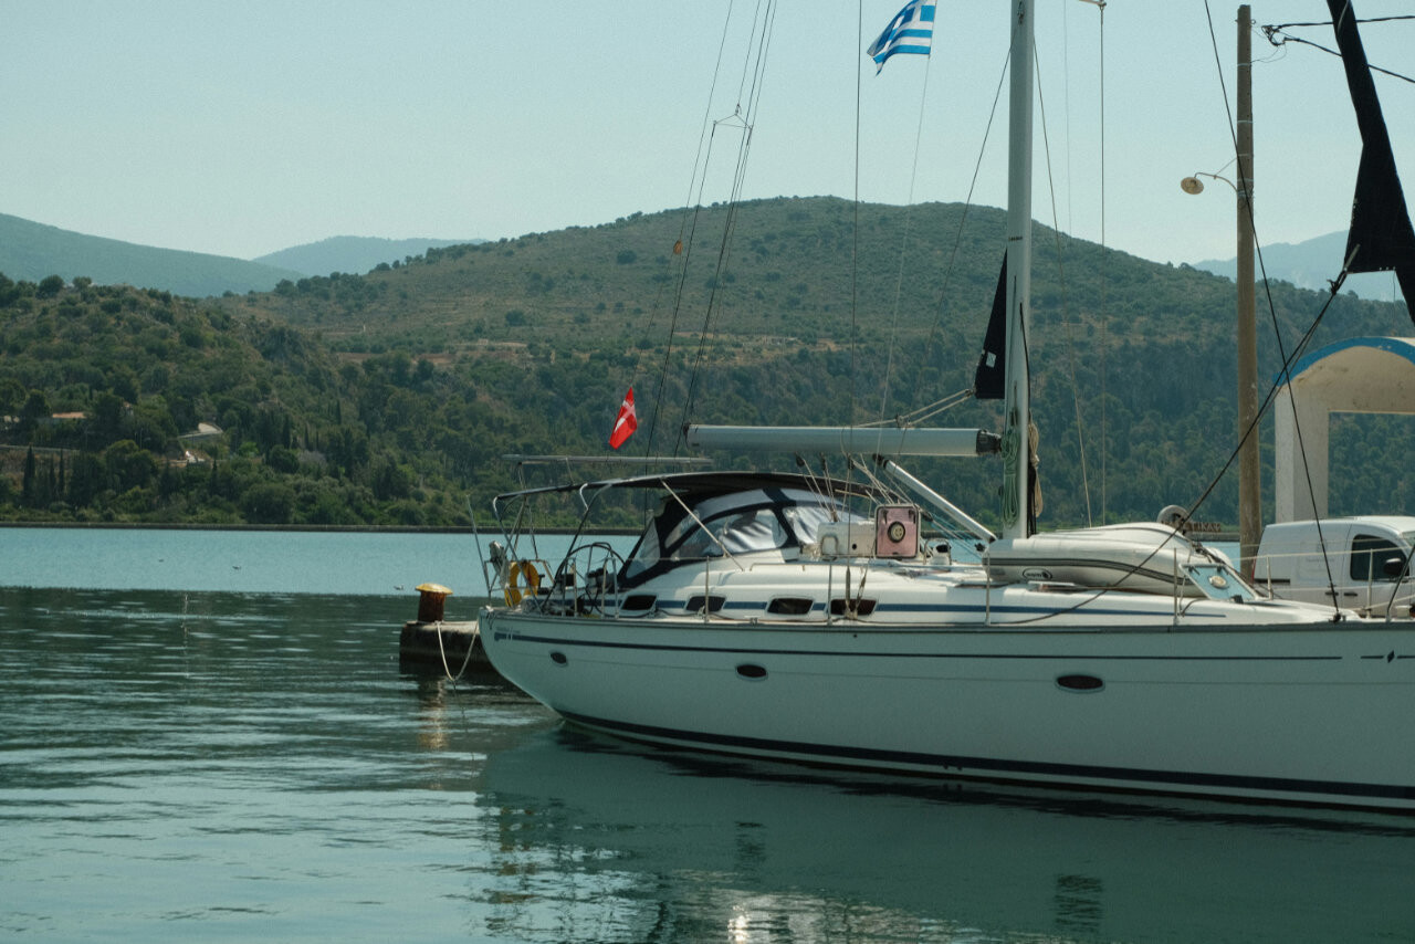
POLYGON ((1415 824, 1382 814, 1003 794, 573 729, 483 783, 498 928, 528 940, 597 913, 655 941, 1415 940, 1415 824))

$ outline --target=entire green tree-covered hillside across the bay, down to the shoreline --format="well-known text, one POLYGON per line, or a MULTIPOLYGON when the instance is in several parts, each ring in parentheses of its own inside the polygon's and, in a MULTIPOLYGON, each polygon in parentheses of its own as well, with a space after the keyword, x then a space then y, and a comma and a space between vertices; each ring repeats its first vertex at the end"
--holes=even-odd
MULTIPOLYGON (((1002 234, 988 208, 771 200, 430 249, 205 301, 4 280, 0 412, 14 422, 0 515, 466 524, 467 500, 484 515, 514 485, 507 453, 610 454, 630 385, 635 454, 674 451, 685 419, 904 415, 971 386, 1002 234), (75 412, 89 419, 54 419, 75 412), (198 423, 222 432, 178 439, 198 423), (211 461, 185 461, 188 447, 211 461)), ((1041 226, 1036 245, 1043 525, 1191 504, 1235 439, 1232 283, 1041 226)), ((1290 350, 1322 299, 1283 284, 1272 299, 1290 350)), ((1313 344, 1408 324, 1402 306, 1341 297, 1313 344)), ((1271 337, 1259 327, 1264 376, 1279 364, 1271 337)), ((930 422, 999 429, 1000 403, 930 422)), ((1333 510, 1409 510, 1392 507, 1415 497, 1390 474, 1408 430, 1351 429, 1334 450, 1360 461, 1334 483, 1333 510)), ((996 461, 920 471, 996 519, 996 461)), ((1221 485, 1200 517, 1232 521, 1235 491, 1221 485)))

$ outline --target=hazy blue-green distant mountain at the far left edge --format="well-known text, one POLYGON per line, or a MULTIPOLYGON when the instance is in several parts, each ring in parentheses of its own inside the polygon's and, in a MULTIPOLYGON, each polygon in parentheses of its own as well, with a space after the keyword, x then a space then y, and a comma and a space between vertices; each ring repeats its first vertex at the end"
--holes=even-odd
POLYGON ((48 276, 88 276, 98 284, 130 284, 205 297, 226 292, 269 292, 301 273, 204 252, 156 249, 120 239, 86 236, 0 214, 0 273, 38 282, 48 276))

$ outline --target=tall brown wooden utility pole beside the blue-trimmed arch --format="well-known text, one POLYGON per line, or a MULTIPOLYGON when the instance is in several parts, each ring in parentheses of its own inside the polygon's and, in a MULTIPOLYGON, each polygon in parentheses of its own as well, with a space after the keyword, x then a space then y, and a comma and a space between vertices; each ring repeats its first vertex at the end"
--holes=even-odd
POLYGON ((1252 576, 1262 535, 1258 430, 1258 330, 1252 267, 1252 11, 1238 7, 1238 555, 1252 576))

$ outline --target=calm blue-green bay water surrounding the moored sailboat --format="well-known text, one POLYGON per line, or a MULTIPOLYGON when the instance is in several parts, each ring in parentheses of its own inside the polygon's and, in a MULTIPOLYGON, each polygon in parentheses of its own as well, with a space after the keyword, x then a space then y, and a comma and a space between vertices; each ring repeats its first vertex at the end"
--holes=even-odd
POLYGON ((638 750, 400 665, 470 542, 0 529, 0 936, 1415 940, 1411 818, 638 750))

